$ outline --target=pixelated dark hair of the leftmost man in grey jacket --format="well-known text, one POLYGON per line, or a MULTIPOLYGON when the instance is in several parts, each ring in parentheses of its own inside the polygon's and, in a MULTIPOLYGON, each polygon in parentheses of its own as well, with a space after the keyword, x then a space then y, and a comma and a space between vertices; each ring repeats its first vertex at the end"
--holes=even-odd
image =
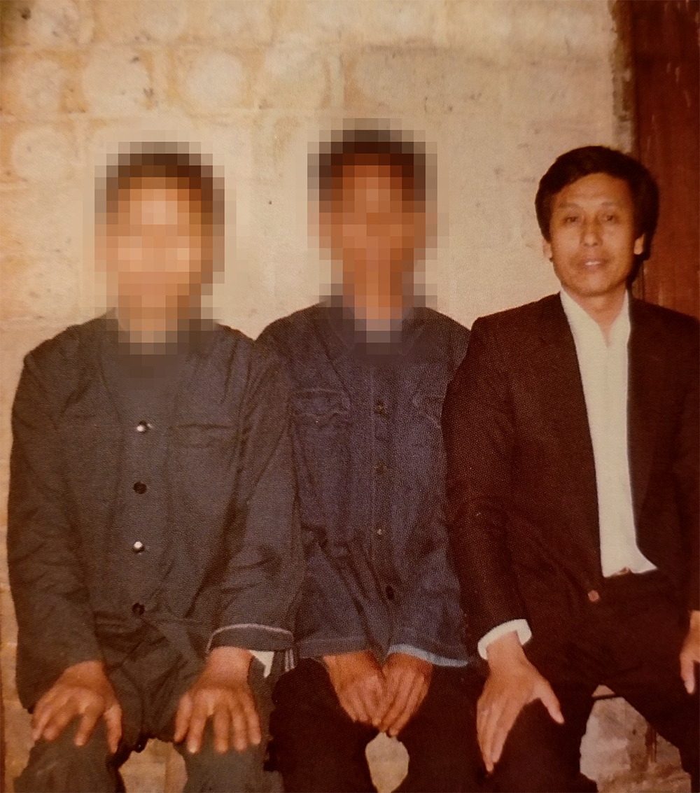
POLYGON ((95 184, 95 211, 110 216, 117 213, 119 191, 132 186, 135 179, 165 178, 178 188, 195 194, 202 225, 217 227, 224 222, 223 180, 214 174, 212 164, 186 144, 148 142, 129 144, 108 163, 105 176, 95 184))

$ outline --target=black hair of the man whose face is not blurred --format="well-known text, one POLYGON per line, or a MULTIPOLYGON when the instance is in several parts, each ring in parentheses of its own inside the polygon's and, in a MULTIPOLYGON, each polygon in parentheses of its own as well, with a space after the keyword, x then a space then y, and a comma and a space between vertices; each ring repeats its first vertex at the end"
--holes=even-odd
POLYGON ((636 159, 606 146, 583 146, 560 155, 540 179, 535 196, 537 223, 549 241, 553 199, 564 187, 589 174, 608 174, 624 179, 634 205, 635 236, 644 234, 644 251, 638 262, 648 259, 659 216, 659 188, 652 174, 636 159))

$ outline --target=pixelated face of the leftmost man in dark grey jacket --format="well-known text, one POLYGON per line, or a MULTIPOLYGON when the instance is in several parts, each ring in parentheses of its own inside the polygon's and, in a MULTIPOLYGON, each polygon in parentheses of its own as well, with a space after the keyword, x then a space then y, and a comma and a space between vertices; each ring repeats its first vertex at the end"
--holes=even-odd
POLYGON ((212 231, 197 192, 164 178, 133 179, 105 224, 104 259, 120 307, 163 314, 190 305, 212 272, 212 231))

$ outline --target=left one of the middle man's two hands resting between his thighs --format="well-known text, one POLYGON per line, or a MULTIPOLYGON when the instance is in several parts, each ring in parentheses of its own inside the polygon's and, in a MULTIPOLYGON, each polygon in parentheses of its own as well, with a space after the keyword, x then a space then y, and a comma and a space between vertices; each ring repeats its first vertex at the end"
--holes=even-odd
POLYGON ((384 673, 377 659, 367 650, 359 653, 324 655, 323 662, 331 678, 342 709, 354 722, 377 726, 384 695, 384 673))

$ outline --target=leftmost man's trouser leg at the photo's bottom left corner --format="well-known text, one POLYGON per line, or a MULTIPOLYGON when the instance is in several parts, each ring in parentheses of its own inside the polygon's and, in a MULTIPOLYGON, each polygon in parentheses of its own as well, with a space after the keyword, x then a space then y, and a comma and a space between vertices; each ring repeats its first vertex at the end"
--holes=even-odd
POLYGON ((78 719, 55 741, 36 742, 29 762, 14 781, 18 793, 118 793, 124 791, 117 764, 107 746, 105 722, 95 725, 84 746, 73 743, 78 719))

